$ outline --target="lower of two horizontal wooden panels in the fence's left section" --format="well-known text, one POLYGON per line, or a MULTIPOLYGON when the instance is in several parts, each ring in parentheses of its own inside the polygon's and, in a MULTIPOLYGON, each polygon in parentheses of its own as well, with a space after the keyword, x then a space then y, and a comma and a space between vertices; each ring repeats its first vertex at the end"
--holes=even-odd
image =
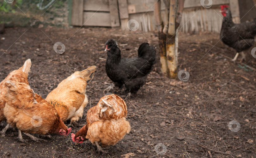
POLYGON ((111 26, 110 13, 83 12, 84 26, 111 26))

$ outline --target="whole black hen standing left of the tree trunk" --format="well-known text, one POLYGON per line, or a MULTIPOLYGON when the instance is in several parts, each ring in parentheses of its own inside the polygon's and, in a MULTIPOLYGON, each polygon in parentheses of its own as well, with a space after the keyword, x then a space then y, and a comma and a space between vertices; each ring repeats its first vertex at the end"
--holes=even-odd
MULTIPOLYGON (((115 86, 125 86, 127 97, 131 96, 131 93, 136 93, 145 84, 147 75, 155 64, 155 47, 149 46, 149 43, 142 43, 136 58, 122 58, 116 40, 109 39, 105 51, 107 76, 115 82, 115 86)), ((113 85, 105 90, 109 91, 112 88, 113 85)))

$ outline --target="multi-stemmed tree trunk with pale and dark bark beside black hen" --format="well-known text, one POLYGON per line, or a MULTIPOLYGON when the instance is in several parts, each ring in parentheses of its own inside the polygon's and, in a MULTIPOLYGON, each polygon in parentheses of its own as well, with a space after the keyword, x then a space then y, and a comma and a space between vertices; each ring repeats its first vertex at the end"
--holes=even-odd
POLYGON ((161 71, 169 78, 177 77, 178 26, 185 0, 163 0, 166 5, 166 25, 161 17, 161 0, 155 0, 154 14, 159 35, 161 71))

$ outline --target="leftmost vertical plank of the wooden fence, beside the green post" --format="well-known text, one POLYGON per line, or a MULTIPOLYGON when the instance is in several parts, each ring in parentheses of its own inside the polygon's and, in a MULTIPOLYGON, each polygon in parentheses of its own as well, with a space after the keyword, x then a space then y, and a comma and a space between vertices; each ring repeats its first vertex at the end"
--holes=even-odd
POLYGON ((83 0, 72 1, 71 25, 82 26, 83 24, 83 0))

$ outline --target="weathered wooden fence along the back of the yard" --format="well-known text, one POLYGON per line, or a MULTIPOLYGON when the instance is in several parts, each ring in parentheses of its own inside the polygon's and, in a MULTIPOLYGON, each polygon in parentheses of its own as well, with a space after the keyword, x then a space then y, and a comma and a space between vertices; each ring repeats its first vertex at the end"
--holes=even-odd
MULTIPOLYGON (((222 25, 220 5, 229 5, 233 21, 239 23, 256 15, 256 7, 252 8, 254 3, 256 0, 212 0, 212 6, 204 8, 200 0, 186 0, 179 30, 219 33, 222 25)), ((128 30, 127 22, 133 19, 138 22, 140 31, 156 30, 154 4, 155 0, 73 0, 71 25, 121 27, 128 30)), ((161 13, 165 21, 163 2, 161 13)))

